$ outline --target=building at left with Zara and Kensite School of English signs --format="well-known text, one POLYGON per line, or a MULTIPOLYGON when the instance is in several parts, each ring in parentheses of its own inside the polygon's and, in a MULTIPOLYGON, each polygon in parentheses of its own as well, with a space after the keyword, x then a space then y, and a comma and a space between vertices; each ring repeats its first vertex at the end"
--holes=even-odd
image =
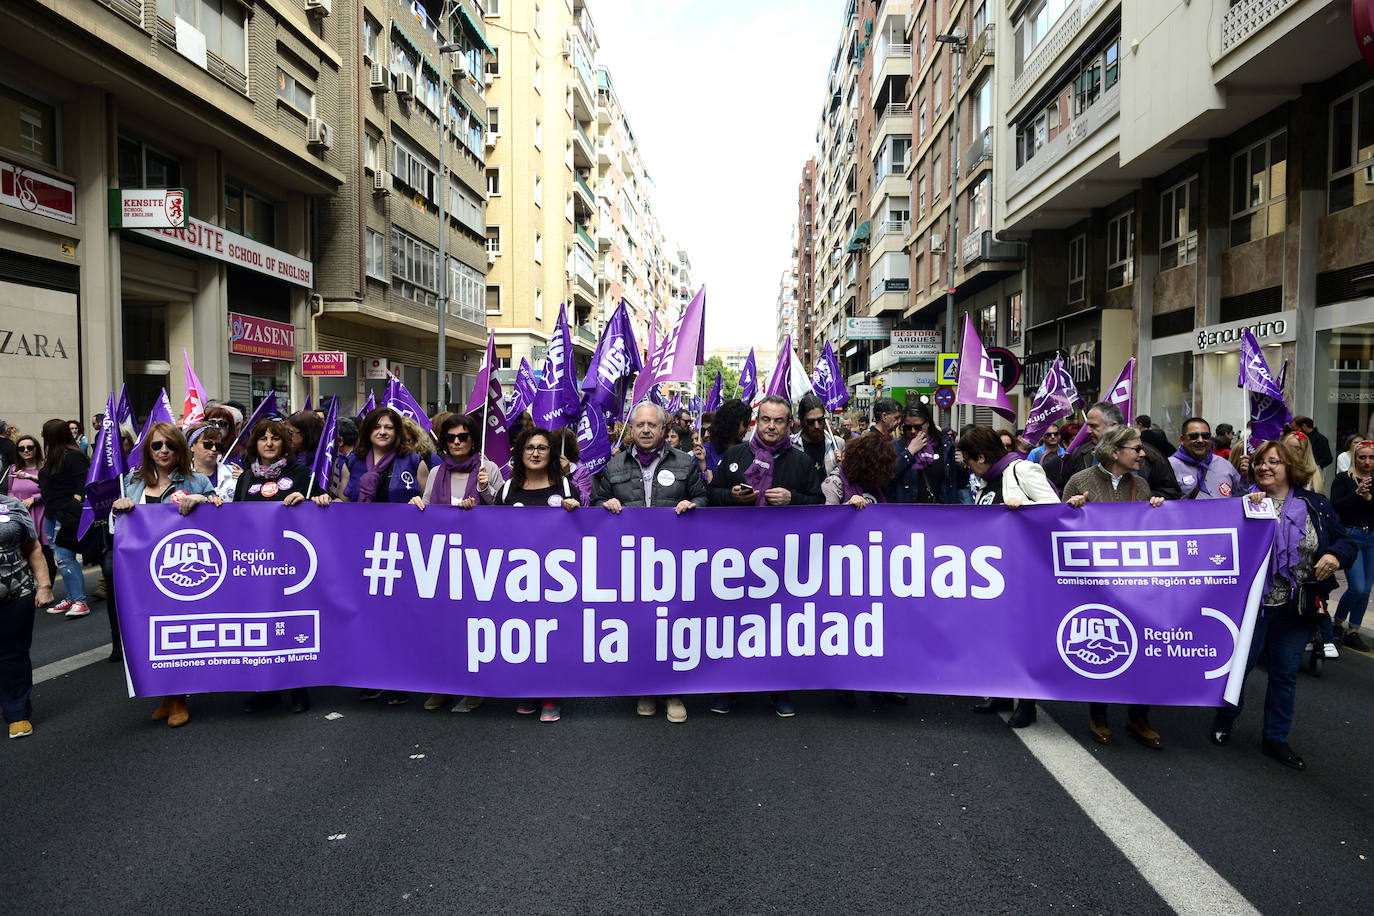
POLYGON ((317 130, 348 80, 328 16, 284 0, 15 0, 0 47, 10 419, 89 416, 121 382, 140 413, 164 386, 180 402, 183 349, 218 394, 300 402, 313 202, 356 174, 317 130), (289 66, 301 77, 283 88, 289 66), (135 196, 184 225, 120 228, 111 188, 148 190, 135 196), (231 341, 231 316, 273 343, 231 341))

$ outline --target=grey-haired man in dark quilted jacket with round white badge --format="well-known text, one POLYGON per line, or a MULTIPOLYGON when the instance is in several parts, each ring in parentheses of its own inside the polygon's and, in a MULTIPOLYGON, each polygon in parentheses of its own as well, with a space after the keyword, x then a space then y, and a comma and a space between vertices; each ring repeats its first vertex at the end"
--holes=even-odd
MULTIPOLYGON (((672 507, 677 515, 706 505, 706 485, 697 459, 664 442, 668 415, 657 404, 640 404, 629 415, 631 446, 610 456, 594 482, 592 505, 605 505, 614 515, 625 507, 672 507)), ((664 703, 669 722, 686 722, 682 696, 664 703)), ((658 711, 657 696, 640 696, 640 715, 658 711)))

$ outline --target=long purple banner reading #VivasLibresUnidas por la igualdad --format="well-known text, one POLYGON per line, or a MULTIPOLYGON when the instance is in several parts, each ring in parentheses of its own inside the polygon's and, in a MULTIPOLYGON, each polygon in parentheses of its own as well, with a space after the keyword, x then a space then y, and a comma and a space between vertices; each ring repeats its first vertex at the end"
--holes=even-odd
POLYGON ((511 511, 135 507, 114 560, 131 692, 1216 706, 1239 695, 1274 540, 1243 500, 511 511))

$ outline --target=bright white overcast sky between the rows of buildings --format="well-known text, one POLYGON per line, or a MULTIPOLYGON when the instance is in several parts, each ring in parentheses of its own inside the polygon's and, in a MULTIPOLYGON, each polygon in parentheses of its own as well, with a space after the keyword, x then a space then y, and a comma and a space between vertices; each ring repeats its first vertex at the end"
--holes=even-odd
POLYGON ((664 233, 706 284, 706 346, 771 347, 801 166, 846 0, 588 0, 664 233))

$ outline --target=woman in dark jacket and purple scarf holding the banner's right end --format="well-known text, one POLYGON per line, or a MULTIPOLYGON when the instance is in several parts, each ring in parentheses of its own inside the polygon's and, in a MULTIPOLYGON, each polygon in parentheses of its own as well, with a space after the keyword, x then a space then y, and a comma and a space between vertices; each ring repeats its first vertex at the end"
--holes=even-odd
MULTIPOLYGON (((1303 662, 1303 647, 1316 626, 1312 619, 1316 603, 1325 602, 1336 589, 1336 570, 1349 569, 1358 551, 1330 500, 1307 489, 1311 474, 1289 445, 1264 442, 1254 450, 1250 468, 1254 492, 1249 499, 1256 505, 1272 500, 1278 527, 1245 670, 1249 673, 1264 654, 1270 672, 1270 685, 1264 692, 1264 753, 1285 766, 1307 769, 1287 743, 1297 695, 1297 669, 1303 662)), ((1217 710, 1212 721, 1213 744, 1231 740, 1231 729, 1242 707, 1243 703, 1217 710)))

